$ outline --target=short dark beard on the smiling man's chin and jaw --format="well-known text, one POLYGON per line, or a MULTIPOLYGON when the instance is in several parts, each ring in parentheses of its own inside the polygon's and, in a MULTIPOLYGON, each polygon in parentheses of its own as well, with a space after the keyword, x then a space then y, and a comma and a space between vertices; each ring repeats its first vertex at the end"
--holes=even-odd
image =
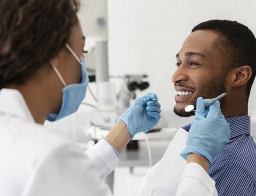
MULTIPOLYGON (((214 98, 225 91, 225 77, 222 77, 221 81, 219 81, 218 83, 208 85, 205 88, 205 91, 202 92, 201 95, 199 95, 198 97, 203 97, 204 99, 214 98)), ((194 105, 194 108, 196 109, 197 98, 195 98, 190 104, 194 105)), ((175 108, 175 106, 173 108, 173 112, 180 117, 190 117, 195 115, 194 111, 185 112, 185 108, 177 109, 175 108)))

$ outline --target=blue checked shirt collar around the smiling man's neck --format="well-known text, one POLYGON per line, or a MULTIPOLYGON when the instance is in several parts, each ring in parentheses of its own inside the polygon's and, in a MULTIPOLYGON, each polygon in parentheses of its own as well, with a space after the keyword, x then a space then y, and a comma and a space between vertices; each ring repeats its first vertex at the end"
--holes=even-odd
MULTIPOLYGON (((225 118, 229 123, 230 139, 238 137, 239 135, 250 134, 251 118, 249 116, 236 116, 232 118, 225 118)), ((185 125, 182 128, 189 132, 191 124, 185 125)))

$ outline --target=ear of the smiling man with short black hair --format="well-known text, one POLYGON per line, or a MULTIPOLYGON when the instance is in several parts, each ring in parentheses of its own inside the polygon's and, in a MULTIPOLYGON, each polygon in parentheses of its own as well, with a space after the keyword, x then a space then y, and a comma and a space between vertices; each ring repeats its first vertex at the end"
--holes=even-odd
POLYGON ((232 70, 232 86, 240 87, 248 82, 252 76, 252 68, 249 65, 243 65, 232 70))

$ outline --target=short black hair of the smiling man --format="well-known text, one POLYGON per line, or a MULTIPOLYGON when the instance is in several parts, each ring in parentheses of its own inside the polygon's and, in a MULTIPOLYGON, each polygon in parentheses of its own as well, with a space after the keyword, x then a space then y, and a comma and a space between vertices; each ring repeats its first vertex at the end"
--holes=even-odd
POLYGON ((208 20, 192 29, 211 30, 218 34, 212 47, 223 54, 223 71, 227 73, 232 68, 249 65, 252 68, 252 77, 246 88, 249 94, 256 75, 256 38, 253 32, 243 24, 230 20, 208 20))

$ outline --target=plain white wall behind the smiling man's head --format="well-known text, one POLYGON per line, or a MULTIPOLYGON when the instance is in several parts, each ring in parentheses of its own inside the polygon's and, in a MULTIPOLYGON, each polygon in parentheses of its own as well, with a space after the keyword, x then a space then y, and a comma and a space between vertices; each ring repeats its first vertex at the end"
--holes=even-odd
MULTIPOLYGON (((82 2, 86 35, 86 13, 96 0, 82 2)), ((195 25, 210 19, 237 20, 256 34, 255 0, 108 0, 107 5, 109 74, 148 74, 150 88, 138 96, 156 92, 165 110, 175 104, 171 81, 175 55, 195 25)), ((256 107, 255 92, 256 84, 249 106, 256 107)))

